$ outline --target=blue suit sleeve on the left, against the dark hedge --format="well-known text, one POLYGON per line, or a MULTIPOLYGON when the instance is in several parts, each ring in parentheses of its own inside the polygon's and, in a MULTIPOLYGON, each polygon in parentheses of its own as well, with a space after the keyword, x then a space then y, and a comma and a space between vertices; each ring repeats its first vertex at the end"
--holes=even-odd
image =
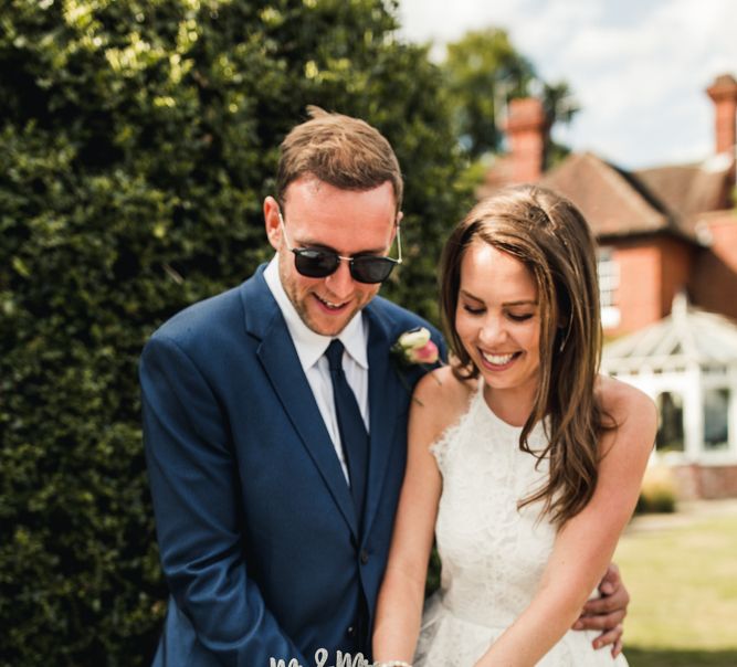
POLYGON ((164 575, 198 640, 224 666, 307 661, 249 579, 228 420, 200 369, 155 337, 140 362, 144 443, 164 575))

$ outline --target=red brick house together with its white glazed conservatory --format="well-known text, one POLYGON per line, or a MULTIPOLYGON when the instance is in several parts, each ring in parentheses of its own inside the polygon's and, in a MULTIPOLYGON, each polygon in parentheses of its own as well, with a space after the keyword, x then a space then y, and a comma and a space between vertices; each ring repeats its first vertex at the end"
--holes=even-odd
POLYGON ((599 243, 602 370, 661 410, 657 453, 683 497, 737 496, 737 82, 707 88, 715 153, 697 165, 636 171, 590 152, 544 172, 548 126, 536 99, 509 105, 509 155, 480 197, 539 182, 568 197, 599 243), (673 305, 680 304, 672 314, 673 305))

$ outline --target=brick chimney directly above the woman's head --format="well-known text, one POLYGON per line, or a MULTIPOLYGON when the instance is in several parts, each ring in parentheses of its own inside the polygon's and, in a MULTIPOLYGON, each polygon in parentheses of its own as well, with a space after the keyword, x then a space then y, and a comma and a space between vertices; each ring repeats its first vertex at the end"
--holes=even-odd
POLYGON ((548 119, 539 99, 525 97, 509 102, 505 129, 514 182, 533 183, 543 176, 548 128, 548 119))

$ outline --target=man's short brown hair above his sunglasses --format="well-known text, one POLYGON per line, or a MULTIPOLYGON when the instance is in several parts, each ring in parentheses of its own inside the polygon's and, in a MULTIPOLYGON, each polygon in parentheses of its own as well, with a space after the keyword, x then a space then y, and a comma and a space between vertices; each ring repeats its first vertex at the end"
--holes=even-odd
POLYGON ((397 211, 402 204, 402 174, 389 141, 368 123, 308 106, 309 120, 297 125, 281 146, 276 200, 283 205, 288 184, 312 174, 343 190, 371 190, 391 182, 397 211))

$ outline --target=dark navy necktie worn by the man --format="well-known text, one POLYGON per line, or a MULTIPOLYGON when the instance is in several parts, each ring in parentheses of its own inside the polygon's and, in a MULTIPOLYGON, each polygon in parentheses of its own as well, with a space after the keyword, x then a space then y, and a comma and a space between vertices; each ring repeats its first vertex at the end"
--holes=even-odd
POLYGON ((356 504, 359 521, 364 514, 364 496, 366 493, 366 470, 368 468, 368 433, 358 409, 356 394, 350 389, 346 374, 343 372, 343 343, 335 339, 328 346, 325 356, 330 366, 335 412, 338 417, 343 453, 348 463, 350 493, 356 504))

